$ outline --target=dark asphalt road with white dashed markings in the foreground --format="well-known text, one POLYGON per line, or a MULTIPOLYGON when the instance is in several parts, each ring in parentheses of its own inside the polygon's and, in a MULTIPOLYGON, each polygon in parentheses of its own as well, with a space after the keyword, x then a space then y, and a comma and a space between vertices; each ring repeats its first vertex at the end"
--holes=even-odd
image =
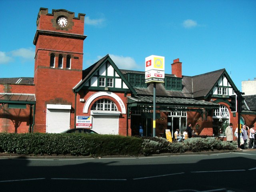
POLYGON ((0 158, 1 191, 252 192, 256 150, 124 158, 0 158))

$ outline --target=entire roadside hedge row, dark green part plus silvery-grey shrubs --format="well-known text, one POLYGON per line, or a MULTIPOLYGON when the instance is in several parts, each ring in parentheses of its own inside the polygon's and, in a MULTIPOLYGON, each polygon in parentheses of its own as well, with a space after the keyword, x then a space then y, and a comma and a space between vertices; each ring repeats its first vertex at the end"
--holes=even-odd
POLYGON ((236 144, 218 138, 190 138, 170 143, 158 137, 126 137, 100 134, 0 133, 0 152, 16 154, 108 156, 236 150, 236 144))

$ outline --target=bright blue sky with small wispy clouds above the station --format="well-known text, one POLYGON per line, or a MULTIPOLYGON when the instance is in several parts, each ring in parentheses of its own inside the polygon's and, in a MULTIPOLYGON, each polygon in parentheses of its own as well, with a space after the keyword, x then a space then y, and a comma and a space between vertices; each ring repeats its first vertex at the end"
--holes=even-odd
POLYGON ((182 75, 225 68, 235 85, 256 77, 255 0, 0 0, 0 78, 34 77, 40 7, 86 14, 84 64, 110 54, 120 69, 144 71, 145 58, 179 58, 182 75))

